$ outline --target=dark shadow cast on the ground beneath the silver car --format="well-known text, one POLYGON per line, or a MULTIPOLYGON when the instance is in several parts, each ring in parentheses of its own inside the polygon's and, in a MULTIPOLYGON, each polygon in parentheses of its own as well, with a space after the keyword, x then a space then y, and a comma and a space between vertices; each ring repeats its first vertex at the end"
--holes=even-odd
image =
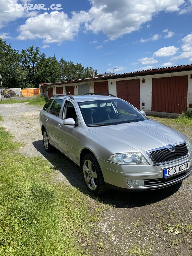
POLYGON ((72 186, 78 188, 82 193, 87 194, 93 199, 117 208, 141 207, 159 202, 177 192, 182 184, 182 182, 180 182, 171 187, 146 192, 109 190, 105 194, 96 197, 85 188, 82 172, 79 166, 69 160, 57 149, 55 149, 53 153, 46 152, 42 140, 34 141, 33 146, 63 174, 72 186))

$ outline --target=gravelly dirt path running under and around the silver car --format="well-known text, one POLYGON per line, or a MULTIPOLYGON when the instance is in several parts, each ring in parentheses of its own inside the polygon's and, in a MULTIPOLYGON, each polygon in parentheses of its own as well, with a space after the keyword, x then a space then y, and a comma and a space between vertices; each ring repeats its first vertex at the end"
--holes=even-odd
MULTIPOLYGON (((46 158, 59 170, 53 178, 91 196, 84 188, 79 167, 57 150, 52 154, 44 151, 40 110, 26 103, 2 104, 1 125, 14 134, 15 141, 25 143, 21 153, 46 158)), ((96 239, 94 255, 192 256, 192 175, 167 189, 147 193, 109 191, 97 200, 101 202, 97 211, 102 218, 95 221, 93 233, 102 239, 96 239)))

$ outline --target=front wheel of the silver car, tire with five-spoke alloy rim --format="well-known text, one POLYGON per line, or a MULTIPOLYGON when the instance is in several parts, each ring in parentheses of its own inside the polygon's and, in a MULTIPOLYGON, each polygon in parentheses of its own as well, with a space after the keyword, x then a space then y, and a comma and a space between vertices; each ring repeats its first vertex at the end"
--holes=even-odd
POLYGON ((93 154, 83 157, 82 171, 85 185, 91 193, 99 195, 107 191, 101 168, 93 154))

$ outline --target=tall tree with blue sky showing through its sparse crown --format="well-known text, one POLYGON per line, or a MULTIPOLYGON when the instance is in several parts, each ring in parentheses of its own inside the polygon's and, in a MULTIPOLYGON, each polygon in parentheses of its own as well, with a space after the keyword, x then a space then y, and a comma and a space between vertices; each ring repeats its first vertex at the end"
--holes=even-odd
POLYGON ((31 85, 31 87, 38 86, 35 79, 35 68, 36 64, 39 61, 39 47, 36 47, 34 50, 34 46, 31 45, 27 50, 21 51, 21 64, 23 69, 27 71, 27 83, 31 85))

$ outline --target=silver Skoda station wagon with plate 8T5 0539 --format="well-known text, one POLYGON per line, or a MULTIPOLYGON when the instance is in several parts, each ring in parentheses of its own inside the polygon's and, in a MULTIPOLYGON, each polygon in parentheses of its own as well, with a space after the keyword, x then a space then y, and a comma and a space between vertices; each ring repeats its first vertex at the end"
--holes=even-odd
POLYGON ((113 95, 54 95, 40 126, 45 150, 56 148, 80 166, 94 194, 160 189, 192 172, 186 135, 113 95))

